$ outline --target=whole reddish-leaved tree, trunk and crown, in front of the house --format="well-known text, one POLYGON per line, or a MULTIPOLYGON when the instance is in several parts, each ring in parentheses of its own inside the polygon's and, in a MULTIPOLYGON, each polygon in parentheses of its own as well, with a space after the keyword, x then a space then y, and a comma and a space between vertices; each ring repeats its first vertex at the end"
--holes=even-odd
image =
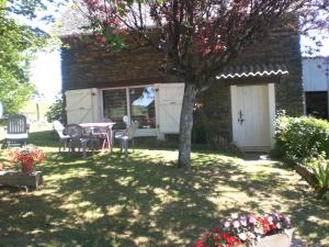
POLYGON ((184 168, 191 166, 193 105, 211 79, 279 22, 298 15, 305 33, 328 27, 329 8, 328 0, 81 0, 76 4, 89 19, 84 29, 107 50, 154 46, 166 56, 161 68, 184 79, 179 147, 179 166, 184 168), (127 34, 129 38, 124 38, 127 34))

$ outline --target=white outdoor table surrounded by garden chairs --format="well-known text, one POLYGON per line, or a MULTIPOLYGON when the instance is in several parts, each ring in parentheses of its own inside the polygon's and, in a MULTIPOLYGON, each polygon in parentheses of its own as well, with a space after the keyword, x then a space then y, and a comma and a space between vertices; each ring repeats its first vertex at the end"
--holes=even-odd
MULTIPOLYGON (((116 123, 114 122, 102 122, 102 123, 80 123, 79 125, 84 128, 91 128, 91 135, 95 137, 101 137, 101 135, 105 135, 105 141, 107 143, 109 149, 113 147, 113 131, 112 127, 116 123), (97 132, 98 128, 105 128, 106 132, 97 132)), ((103 142, 102 149, 105 147, 105 142, 103 142)))

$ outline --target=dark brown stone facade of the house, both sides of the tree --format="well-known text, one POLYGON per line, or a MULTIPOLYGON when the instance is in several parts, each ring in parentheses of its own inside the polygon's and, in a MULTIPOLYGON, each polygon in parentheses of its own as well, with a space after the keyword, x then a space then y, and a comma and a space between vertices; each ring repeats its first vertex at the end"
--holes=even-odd
MULTIPOLYGON (((181 79, 163 75, 159 66, 163 59, 157 50, 138 50, 110 54, 91 45, 72 43, 61 52, 63 89, 113 88, 159 82, 182 82, 181 79)), ((261 42, 254 42, 232 61, 243 64, 285 64, 290 75, 282 78, 251 78, 214 80, 211 89, 198 97, 202 114, 197 123, 206 122, 208 142, 231 142, 231 102, 229 85, 275 82, 276 110, 287 114, 304 113, 302 85, 302 57, 299 36, 293 27, 277 29, 261 42)))

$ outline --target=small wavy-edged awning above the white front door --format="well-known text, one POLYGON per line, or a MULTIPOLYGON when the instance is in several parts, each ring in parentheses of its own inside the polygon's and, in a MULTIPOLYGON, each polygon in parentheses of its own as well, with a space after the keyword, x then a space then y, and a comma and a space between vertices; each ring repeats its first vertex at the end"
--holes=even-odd
POLYGON ((268 77, 287 75, 288 70, 284 64, 260 64, 260 65, 242 65, 228 66, 216 79, 237 79, 247 77, 268 77))

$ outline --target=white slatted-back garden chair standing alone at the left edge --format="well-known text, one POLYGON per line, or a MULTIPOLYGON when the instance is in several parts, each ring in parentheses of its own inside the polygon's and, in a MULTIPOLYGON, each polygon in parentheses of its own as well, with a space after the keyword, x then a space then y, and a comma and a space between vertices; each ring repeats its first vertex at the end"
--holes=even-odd
POLYGON ((21 114, 10 115, 4 131, 5 145, 8 147, 26 145, 29 139, 26 116, 21 114))

